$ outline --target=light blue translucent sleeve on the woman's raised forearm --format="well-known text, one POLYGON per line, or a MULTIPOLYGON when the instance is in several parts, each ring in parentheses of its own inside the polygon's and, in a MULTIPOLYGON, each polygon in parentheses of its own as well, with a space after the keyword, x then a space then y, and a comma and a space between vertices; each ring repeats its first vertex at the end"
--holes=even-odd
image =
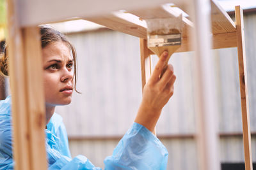
POLYGON ((134 123, 120 140, 113 155, 104 160, 105 170, 166 169, 168 151, 143 125, 134 123))

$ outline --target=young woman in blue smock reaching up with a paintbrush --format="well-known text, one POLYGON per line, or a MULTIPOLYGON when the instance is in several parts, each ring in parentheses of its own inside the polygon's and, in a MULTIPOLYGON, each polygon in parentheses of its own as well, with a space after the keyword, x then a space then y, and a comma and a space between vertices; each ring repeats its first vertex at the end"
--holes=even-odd
MULTIPOLYGON (((69 104, 76 90, 76 52, 58 31, 41 26, 41 43, 45 93, 45 146, 49 169, 100 169, 86 157, 70 156, 65 126, 60 115, 54 112, 58 105, 69 104)), ((7 48, 6 48, 7 49, 7 48)), ((163 52, 143 89, 143 98, 131 128, 120 140, 113 155, 104 160, 105 169, 166 169, 168 152, 152 134, 163 106, 173 95, 175 75, 168 65, 163 76, 163 52)), ((8 76, 8 50, 0 58, 0 73, 8 76)), ((0 169, 13 169, 11 97, 0 101, 0 169)))

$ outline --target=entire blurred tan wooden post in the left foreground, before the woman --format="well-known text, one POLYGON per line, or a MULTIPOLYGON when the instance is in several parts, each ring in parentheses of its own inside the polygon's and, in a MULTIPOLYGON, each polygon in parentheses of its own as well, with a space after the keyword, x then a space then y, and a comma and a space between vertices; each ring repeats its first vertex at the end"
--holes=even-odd
POLYGON ((20 28, 19 2, 7 3, 15 169, 47 169, 40 34, 38 27, 20 28))

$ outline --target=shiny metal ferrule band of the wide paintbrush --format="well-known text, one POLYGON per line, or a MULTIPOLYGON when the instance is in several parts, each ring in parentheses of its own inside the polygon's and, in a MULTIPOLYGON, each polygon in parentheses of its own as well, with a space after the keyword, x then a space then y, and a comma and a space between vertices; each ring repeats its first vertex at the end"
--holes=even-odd
POLYGON ((148 47, 181 45, 181 34, 165 34, 147 36, 148 47))

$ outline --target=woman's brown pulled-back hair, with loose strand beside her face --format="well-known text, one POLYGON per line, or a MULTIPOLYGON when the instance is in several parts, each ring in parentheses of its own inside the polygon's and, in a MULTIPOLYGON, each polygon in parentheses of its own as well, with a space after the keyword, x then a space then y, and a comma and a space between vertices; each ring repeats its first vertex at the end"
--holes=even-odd
MULTIPOLYGON (((42 48, 44 48, 45 46, 50 45, 51 43, 54 43, 56 41, 61 41, 61 42, 65 43, 68 46, 68 48, 70 48, 70 50, 72 52, 73 60, 74 60, 74 81, 75 81, 74 89, 76 90, 76 92, 78 92, 76 89, 76 81, 77 81, 76 49, 70 43, 70 41, 68 41, 67 37, 64 34, 62 34, 61 32, 52 29, 48 25, 47 26, 41 25, 41 26, 39 26, 39 29, 40 29, 40 34, 41 34, 42 48)), ((4 49, 4 53, 1 53, 1 56, 0 56, 0 74, 2 74, 3 76, 9 75, 8 74, 7 48, 4 49)), ((80 92, 78 92, 78 93, 80 93, 80 92)))

